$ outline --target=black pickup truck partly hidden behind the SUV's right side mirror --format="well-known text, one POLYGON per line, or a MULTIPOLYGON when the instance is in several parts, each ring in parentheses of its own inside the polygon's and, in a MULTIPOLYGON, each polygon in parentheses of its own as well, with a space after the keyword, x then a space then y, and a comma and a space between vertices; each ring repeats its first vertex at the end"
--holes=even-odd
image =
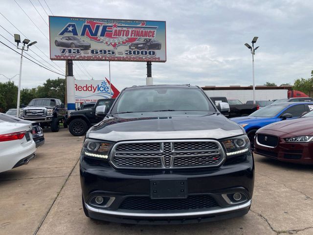
POLYGON ((239 102, 235 102, 235 100, 228 101, 226 97, 210 97, 210 99, 215 105, 218 105, 220 102, 229 103, 230 113, 226 116, 227 118, 248 116, 258 110, 256 104, 243 104, 239 100, 239 102))

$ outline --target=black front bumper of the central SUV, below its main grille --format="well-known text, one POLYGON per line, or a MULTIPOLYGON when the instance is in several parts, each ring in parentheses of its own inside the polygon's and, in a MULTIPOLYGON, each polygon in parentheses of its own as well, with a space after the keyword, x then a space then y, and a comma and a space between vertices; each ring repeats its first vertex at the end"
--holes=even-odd
MULTIPOLYGON (((84 156, 80 161, 82 194, 89 217, 121 223, 168 224, 197 223, 241 216, 248 212, 254 186, 254 163, 251 153, 227 160, 220 167, 178 170, 117 170, 101 160, 84 156), (129 198, 151 199, 152 180, 185 180, 187 198, 198 195, 211 197, 216 204, 209 208, 176 210, 125 209, 129 198), (227 202, 223 195, 240 192, 246 198, 237 204, 227 202), (105 208, 92 204, 95 196, 110 198, 105 208)), ((170 199, 173 200, 173 199, 170 199)), ((176 199, 174 199, 175 202, 176 199)), ((179 199, 183 202, 184 199, 179 199)), ((162 204, 162 203, 160 203, 162 204)))

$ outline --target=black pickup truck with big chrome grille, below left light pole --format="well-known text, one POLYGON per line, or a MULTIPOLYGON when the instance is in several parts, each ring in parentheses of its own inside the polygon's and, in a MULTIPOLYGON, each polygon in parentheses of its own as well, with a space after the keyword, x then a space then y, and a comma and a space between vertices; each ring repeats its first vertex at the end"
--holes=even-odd
POLYGON ((41 127, 51 127, 52 132, 58 132, 59 123, 65 123, 67 109, 60 99, 32 99, 26 107, 20 109, 19 116, 24 120, 39 122, 41 127))

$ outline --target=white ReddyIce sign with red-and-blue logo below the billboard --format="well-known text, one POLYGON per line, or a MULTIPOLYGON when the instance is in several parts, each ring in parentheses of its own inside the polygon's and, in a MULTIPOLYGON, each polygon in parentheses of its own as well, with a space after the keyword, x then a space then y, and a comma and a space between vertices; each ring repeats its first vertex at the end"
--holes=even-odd
POLYGON ((98 99, 115 98, 119 91, 105 80, 75 80, 75 102, 96 102, 98 99))

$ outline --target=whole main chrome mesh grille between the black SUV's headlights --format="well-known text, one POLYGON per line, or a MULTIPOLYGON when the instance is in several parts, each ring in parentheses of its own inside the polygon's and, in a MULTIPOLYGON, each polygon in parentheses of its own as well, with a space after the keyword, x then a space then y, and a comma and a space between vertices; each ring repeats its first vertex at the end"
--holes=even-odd
POLYGON ((125 141, 116 143, 110 161, 116 168, 188 168, 218 166, 225 159, 221 144, 203 141, 125 141))

